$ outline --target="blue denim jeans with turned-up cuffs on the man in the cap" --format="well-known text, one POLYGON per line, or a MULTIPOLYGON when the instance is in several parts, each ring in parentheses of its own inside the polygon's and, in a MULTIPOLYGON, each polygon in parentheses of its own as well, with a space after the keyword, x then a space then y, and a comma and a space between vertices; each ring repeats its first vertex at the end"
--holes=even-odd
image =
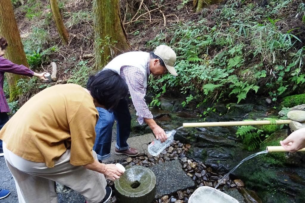
POLYGON ((117 108, 113 112, 97 107, 99 120, 95 126, 95 143, 93 150, 96 152, 99 160, 110 157, 112 127, 114 119, 117 121, 117 144, 116 148, 125 150, 129 148, 127 139, 130 135, 131 115, 128 109, 128 100, 121 99, 117 108))

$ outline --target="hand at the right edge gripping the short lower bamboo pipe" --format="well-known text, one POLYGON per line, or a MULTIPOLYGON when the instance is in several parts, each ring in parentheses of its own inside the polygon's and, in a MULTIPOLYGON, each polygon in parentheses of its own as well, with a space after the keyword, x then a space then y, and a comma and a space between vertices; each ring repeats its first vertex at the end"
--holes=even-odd
POLYGON ((305 128, 294 131, 285 140, 280 141, 282 147, 289 152, 295 152, 305 147, 305 128))

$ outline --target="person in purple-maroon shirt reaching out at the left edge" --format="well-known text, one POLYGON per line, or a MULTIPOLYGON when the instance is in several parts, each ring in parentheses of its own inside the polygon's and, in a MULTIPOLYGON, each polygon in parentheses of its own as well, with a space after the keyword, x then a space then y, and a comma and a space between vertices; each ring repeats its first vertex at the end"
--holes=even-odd
MULTIPOLYGON (((3 83, 4 83, 4 73, 15 73, 18 75, 24 75, 28 77, 38 77, 41 80, 48 80, 45 78, 45 73, 35 73, 34 71, 30 70, 26 66, 17 65, 13 62, 9 61, 8 59, 3 58, 5 54, 5 48, 8 46, 8 43, 4 37, 0 36, 0 130, 4 126, 4 124, 9 120, 9 116, 7 115, 8 112, 11 110, 9 109, 9 105, 7 104, 4 91, 3 91, 3 83)), ((0 156, 3 156, 3 149, 2 149, 2 140, 0 140, 0 156)), ((0 188, 0 199, 7 197, 10 194, 9 190, 4 190, 0 188)))

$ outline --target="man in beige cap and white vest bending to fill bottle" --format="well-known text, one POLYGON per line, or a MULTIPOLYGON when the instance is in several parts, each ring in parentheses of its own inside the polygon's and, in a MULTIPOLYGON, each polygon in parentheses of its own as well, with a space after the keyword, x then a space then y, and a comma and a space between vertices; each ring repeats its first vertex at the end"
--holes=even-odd
MULTIPOLYGON (((138 122, 147 123, 157 139, 165 141, 167 136, 164 130, 153 120, 152 113, 145 103, 145 94, 149 74, 160 76, 170 73, 177 76, 174 69, 176 62, 175 52, 166 45, 158 46, 153 52, 127 52, 115 57, 104 69, 115 70, 126 81, 132 102, 138 116, 138 122)), ((112 126, 117 121, 117 144, 115 154, 138 155, 139 151, 127 144, 130 135, 131 115, 126 98, 121 99, 113 112, 97 108, 99 120, 95 126, 96 139, 93 150, 100 161, 110 157, 112 126)))

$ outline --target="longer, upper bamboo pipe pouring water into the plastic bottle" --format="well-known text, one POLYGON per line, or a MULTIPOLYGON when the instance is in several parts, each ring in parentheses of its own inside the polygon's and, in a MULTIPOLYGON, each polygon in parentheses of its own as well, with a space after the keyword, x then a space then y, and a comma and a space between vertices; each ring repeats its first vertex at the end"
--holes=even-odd
POLYGON ((214 127, 214 126, 259 126, 259 125, 282 125, 289 124, 292 120, 253 120, 253 121, 230 121, 230 122, 205 122, 205 123, 183 123, 184 128, 191 127, 214 127))

